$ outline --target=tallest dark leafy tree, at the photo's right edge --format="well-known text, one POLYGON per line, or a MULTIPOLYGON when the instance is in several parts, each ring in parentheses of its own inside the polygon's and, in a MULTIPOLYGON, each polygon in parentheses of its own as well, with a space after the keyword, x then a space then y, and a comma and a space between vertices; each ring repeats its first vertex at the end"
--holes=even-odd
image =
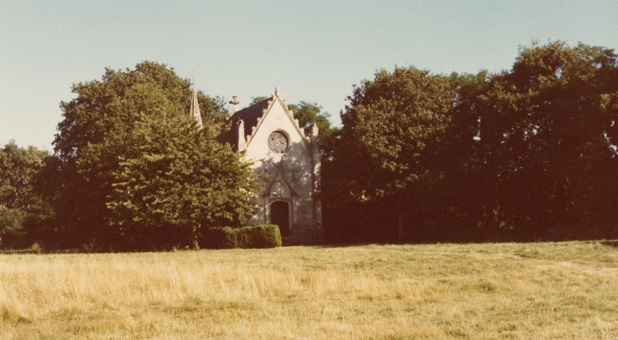
POLYGON ((478 96, 479 156, 494 193, 485 223, 535 234, 611 220, 617 91, 610 49, 561 41, 522 48, 478 96))

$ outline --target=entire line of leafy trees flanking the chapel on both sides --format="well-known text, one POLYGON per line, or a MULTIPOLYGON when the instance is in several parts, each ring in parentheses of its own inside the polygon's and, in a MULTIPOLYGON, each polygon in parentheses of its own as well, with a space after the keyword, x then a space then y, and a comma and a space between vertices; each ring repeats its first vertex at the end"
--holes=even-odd
MULTIPOLYGON (((89 250, 197 248, 250 214, 255 176, 216 137, 219 97, 142 62, 77 83, 54 153, 0 151, 0 245, 89 250)), ((260 100, 260 97, 254 98, 260 100)), ((334 127, 317 103, 330 242, 446 242, 618 234, 618 57, 561 41, 520 48, 501 72, 376 71, 334 127)))

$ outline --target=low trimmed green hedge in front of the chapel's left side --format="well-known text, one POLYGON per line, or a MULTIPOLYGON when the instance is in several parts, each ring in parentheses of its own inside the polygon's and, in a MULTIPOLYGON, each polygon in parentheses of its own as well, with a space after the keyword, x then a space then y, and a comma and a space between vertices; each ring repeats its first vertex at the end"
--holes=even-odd
POLYGON ((205 245, 213 249, 281 247, 281 232, 274 224, 246 227, 211 227, 205 245))

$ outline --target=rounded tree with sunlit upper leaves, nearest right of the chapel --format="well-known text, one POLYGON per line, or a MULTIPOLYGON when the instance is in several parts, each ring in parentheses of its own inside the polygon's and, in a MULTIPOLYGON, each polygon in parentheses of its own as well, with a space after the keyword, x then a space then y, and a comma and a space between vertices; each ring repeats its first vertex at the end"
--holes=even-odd
POLYGON ((433 168, 454 91, 446 77, 396 67, 364 80, 349 101, 335 152, 339 195, 397 216, 402 240, 409 235, 407 221, 427 223, 434 208, 431 188, 440 174, 433 168))

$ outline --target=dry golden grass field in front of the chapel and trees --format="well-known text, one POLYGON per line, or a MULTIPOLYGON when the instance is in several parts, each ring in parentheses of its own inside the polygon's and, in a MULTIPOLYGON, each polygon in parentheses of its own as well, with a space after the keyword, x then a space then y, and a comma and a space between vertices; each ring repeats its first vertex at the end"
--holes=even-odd
POLYGON ((0 338, 616 339, 617 246, 0 255, 0 338))

